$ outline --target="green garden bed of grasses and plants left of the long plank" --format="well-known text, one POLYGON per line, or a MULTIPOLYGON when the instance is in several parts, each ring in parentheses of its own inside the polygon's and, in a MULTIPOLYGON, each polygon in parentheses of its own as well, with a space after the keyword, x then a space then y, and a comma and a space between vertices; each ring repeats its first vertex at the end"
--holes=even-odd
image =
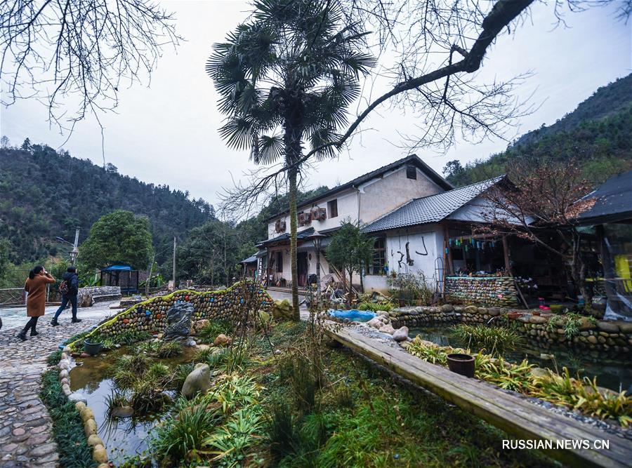
MULTIPOLYGON (((502 450, 501 441, 507 434, 435 396, 396 382, 343 349, 327 349, 322 353, 322 375, 316 378, 311 370, 310 348, 305 345, 310 340, 305 323, 275 323, 269 335, 263 333, 265 329, 249 328, 241 344, 223 348, 203 346, 195 355, 180 355, 173 366, 170 359, 175 358, 159 361, 154 357, 157 350, 152 349, 152 340, 140 347, 136 344, 118 349, 117 354, 122 355, 135 355, 130 349, 138 350, 136 355, 147 354, 149 362, 138 360, 139 375, 157 374, 157 370, 152 371, 157 363, 166 366, 169 369, 167 372, 163 369, 162 375, 171 384, 162 386, 165 387, 162 393, 170 399, 154 413, 159 415, 157 422, 142 434, 144 444, 140 455, 128 450, 114 456, 114 448, 109 448, 111 459, 121 467, 453 466, 475 461, 495 466, 546 466, 550 463, 537 453, 502 450), (182 370, 195 362, 209 364, 213 386, 206 395, 186 400, 177 390, 181 377, 175 385, 174 375, 178 368, 182 370), (143 366, 145 370, 141 371, 143 366)), ((211 341, 213 333, 196 340, 211 341)), ((82 364, 72 370, 71 385, 88 366, 112 358, 114 354, 110 352, 100 358, 78 359, 82 364)), ((104 369, 103 380, 125 380, 123 374, 129 360, 122 363, 120 356, 118 359, 115 369, 104 369)), ((159 379, 154 375, 152 380, 159 379)), ((99 388, 94 380, 77 382, 86 392, 99 388)), ((143 384, 126 385, 131 385, 133 394, 135 385, 143 384)), ((161 386, 156 384, 152 388, 161 386)), ((102 393, 100 398, 104 396, 102 393)), ((131 394, 128 396, 133 398, 131 394)), ((96 408, 90 398, 88 395, 88 406, 96 408)), ((109 410, 103 406, 98 411, 109 410)), ((95 417, 99 420, 102 415, 95 417)), ((105 427, 99 426, 100 431, 105 427)), ((107 436, 100 436, 108 446, 107 436)))

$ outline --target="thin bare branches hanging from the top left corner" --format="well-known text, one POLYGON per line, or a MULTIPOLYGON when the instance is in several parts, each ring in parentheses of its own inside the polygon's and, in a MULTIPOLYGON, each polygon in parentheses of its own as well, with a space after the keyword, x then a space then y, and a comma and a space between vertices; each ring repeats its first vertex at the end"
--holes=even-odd
POLYGON ((114 109, 119 88, 148 79, 179 41, 173 15, 150 0, 3 0, 1 104, 37 98, 51 123, 72 130, 114 109))

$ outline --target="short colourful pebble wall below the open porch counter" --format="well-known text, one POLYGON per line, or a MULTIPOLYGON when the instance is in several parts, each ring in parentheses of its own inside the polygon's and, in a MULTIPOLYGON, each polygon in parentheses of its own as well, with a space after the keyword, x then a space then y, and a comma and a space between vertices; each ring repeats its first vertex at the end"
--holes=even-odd
POLYGON ((453 304, 518 306, 518 292, 510 276, 448 276, 445 295, 453 304))

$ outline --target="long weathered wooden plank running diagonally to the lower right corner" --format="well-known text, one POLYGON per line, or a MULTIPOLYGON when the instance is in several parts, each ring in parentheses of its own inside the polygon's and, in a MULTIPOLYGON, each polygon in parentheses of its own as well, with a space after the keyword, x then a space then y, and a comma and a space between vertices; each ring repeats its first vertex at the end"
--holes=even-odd
POLYGON ((545 449, 544 452, 564 463, 581 467, 632 467, 632 448, 626 439, 530 403, 487 382, 452 373, 442 366, 430 364, 399 347, 390 347, 353 329, 326 329, 325 333, 519 439, 551 441, 548 443, 552 443, 553 448, 545 449), (569 440, 607 440, 610 448, 557 448, 558 441, 569 440))

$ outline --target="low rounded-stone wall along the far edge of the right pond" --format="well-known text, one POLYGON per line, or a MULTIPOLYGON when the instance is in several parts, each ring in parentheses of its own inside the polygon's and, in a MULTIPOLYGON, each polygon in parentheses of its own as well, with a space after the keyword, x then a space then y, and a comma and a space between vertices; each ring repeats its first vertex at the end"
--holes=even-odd
POLYGON ((539 310, 512 312, 506 307, 442 305, 438 307, 400 307, 391 310, 393 327, 415 328, 430 323, 488 323, 503 320, 527 340, 541 347, 561 346, 607 354, 632 354, 632 323, 610 320, 579 319, 579 334, 567 337, 564 315, 544 314, 539 310), (553 321, 552 323, 549 323, 553 321))

